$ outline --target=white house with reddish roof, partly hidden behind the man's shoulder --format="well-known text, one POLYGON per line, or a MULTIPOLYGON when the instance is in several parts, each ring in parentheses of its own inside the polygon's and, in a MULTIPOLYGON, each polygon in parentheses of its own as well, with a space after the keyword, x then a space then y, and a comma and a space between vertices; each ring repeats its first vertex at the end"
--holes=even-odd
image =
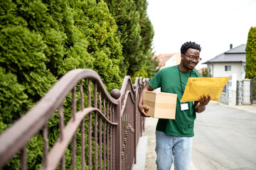
POLYGON ((181 52, 175 52, 170 54, 161 54, 161 55, 154 55, 153 59, 157 59, 159 61, 157 70, 163 69, 165 67, 171 67, 176 64, 180 64, 181 62, 181 52))

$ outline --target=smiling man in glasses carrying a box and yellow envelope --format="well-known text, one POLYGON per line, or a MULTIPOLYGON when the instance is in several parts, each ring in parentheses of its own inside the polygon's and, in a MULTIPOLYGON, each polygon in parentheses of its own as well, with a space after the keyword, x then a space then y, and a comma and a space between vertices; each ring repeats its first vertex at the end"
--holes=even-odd
POLYGON ((161 87, 161 92, 177 94, 176 118, 159 119, 156 125, 156 165, 157 169, 169 170, 173 163, 176 170, 189 169, 191 162, 191 149, 193 142, 193 126, 196 112, 205 111, 210 101, 210 96, 201 96, 198 101, 181 103, 181 97, 185 90, 188 77, 201 77, 193 69, 201 60, 199 53, 200 45, 196 42, 185 42, 181 46, 181 63, 161 69, 146 84, 139 98, 139 111, 142 116, 146 115, 149 108, 143 106, 143 92, 153 91, 161 87))

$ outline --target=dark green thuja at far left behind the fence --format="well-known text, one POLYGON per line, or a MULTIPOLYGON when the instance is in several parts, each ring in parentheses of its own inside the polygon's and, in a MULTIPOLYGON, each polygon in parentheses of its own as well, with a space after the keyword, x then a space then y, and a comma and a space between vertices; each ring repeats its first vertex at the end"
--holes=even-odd
MULTIPOLYGON (((0 126, 4 130, 46 94, 56 77, 47 68, 47 52, 54 47, 48 47, 52 44, 46 38, 47 31, 38 29, 40 19, 49 16, 46 4, 1 1, 0 6, 0 126)), ((38 169, 42 164, 42 148, 40 134, 28 142, 28 169, 38 169)), ((18 169, 18 164, 14 158, 4 169, 18 169)))

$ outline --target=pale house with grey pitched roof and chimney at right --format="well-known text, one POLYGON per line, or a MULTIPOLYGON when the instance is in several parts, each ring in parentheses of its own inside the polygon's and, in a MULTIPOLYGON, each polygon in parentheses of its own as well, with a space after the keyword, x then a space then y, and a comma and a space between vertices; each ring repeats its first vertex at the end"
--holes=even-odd
POLYGON ((230 77, 237 75, 238 80, 245 79, 245 44, 234 47, 230 44, 230 50, 217 55, 203 64, 207 64, 213 77, 230 77))

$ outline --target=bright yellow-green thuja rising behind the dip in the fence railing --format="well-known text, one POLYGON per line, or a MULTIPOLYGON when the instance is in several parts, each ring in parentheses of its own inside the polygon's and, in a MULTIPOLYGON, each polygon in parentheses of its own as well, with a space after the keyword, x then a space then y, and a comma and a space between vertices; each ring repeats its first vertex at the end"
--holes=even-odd
POLYGON ((119 88, 119 62, 123 60, 122 45, 117 38, 117 25, 104 1, 73 1, 75 28, 87 40, 87 52, 93 57, 93 69, 100 74, 107 89, 119 88))

